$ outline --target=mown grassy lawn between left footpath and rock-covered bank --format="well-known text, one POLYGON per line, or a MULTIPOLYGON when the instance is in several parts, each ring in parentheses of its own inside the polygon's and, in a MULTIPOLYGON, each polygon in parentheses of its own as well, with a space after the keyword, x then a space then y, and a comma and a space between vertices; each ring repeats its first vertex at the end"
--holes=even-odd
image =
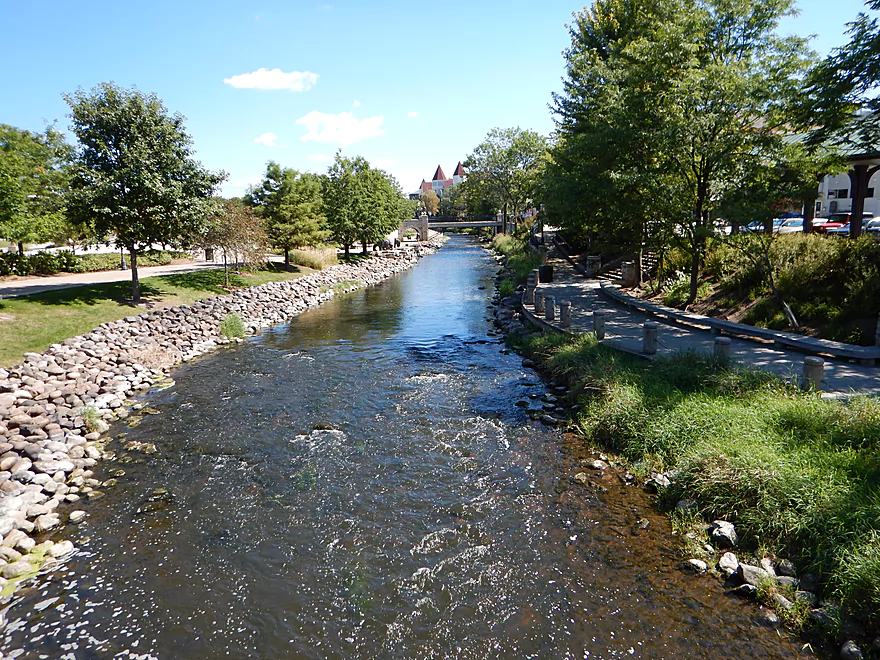
MULTIPOLYGON (((253 274, 230 273, 229 283, 235 287, 257 286, 312 272, 308 268, 292 271, 272 268, 253 274)), ((141 280, 143 302, 137 308, 130 303, 130 282, 80 286, 0 300, 0 366, 17 364, 26 352, 40 353, 50 344, 89 332, 106 321, 222 295, 227 293, 223 283, 222 270, 144 278, 141 280)))

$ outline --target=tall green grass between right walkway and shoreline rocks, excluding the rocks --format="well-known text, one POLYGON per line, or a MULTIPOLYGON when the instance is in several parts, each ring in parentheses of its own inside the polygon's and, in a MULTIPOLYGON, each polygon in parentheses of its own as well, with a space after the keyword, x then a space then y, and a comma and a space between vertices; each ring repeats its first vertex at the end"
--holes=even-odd
POLYGON ((822 576, 825 595, 880 623, 880 401, 801 393, 773 376, 682 354, 646 364, 591 336, 523 340, 581 392, 586 440, 645 470, 677 468, 661 498, 822 576))

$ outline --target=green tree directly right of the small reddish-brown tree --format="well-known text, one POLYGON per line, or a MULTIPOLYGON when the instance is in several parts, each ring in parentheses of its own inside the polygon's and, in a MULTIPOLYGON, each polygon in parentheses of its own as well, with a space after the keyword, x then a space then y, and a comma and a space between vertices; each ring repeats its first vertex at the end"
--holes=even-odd
POLYGON ((248 203, 264 219, 272 246, 284 250, 286 268, 292 248, 318 245, 327 237, 321 191, 320 176, 270 161, 263 182, 248 192, 248 203))

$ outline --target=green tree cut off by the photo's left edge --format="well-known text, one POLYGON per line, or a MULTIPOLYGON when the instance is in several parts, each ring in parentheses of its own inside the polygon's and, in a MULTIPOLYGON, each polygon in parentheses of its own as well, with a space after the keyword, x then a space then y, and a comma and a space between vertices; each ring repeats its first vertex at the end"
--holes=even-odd
POLYGON ((64 192, 70 146, 47 128, 33 133, 0 124, 0 236, 18 244, 65 233, 64 192))

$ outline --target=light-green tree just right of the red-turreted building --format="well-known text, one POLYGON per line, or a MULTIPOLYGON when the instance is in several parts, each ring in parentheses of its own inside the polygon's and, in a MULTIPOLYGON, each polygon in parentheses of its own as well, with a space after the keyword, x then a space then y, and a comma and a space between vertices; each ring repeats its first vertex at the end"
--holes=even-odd
POLYGON ((547 139, 535 131, 516 128, 493 128, 464 166, 471 188, 482 187, 504 212, 514 217, 527 208, 535 196, 542 156, 547 139))

